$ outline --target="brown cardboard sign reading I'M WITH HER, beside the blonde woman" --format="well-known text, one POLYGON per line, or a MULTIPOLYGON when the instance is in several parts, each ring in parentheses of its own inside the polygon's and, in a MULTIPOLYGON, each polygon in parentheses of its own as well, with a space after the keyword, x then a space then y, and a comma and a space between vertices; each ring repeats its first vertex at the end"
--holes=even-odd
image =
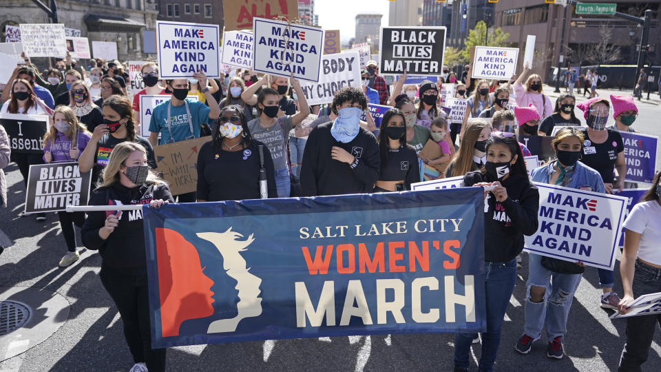
POLYGON ((211 136, 154 147, 156 170, 167 180, 172 195, 194 192, 198 187, 198 153, 211 136))

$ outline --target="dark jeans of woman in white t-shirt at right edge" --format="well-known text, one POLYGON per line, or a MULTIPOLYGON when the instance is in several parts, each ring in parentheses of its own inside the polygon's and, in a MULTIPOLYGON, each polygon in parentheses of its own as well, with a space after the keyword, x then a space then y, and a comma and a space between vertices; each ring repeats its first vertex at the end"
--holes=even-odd
MULTIPOLYGON (((661 269, 636 260, 636 271, 633 272, 631 289, 633 298, 661 292, 661 269)), ((618 371, 641 370, 640 366, 647 360, 649 354, 656 323, 661 327, 661 314, 627 318, 627 343, 622 349, 618 371)))

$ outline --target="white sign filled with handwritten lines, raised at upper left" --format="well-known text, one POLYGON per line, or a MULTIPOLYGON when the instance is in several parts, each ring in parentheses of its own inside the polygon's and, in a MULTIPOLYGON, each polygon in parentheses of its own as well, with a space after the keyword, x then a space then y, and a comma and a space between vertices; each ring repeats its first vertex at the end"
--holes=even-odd
POLYGON ((62 23, 21 23, 21 43, 29 57, 59 57, 67 55, 62 23))

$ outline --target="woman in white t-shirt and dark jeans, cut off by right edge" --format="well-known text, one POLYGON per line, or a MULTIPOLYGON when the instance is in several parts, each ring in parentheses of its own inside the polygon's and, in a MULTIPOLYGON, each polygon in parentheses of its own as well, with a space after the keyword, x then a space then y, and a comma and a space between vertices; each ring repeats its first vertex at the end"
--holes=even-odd
MULTIPOLYGON (((640 203, 625 220, 625 249, 622 251, 620 275, 625 296, 618 310, 630 311, 629 305, 639 296, 661 292, 661 172, 642 196, 640 203)), ((661 315, 627 318, 627 343, 622 350, 618 371, 640 371, 647 360, 649 347, 661 315)))

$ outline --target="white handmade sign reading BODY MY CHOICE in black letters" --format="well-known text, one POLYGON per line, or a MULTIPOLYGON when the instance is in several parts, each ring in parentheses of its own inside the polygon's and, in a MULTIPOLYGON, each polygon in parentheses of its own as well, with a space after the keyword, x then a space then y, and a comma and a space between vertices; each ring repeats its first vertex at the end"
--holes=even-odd
POLYGON ((300 83, 308 105, 331 103, 335 93, 345 87, 361 89, 358 51, 325 54, 322 56, 319 81, 300 83))

